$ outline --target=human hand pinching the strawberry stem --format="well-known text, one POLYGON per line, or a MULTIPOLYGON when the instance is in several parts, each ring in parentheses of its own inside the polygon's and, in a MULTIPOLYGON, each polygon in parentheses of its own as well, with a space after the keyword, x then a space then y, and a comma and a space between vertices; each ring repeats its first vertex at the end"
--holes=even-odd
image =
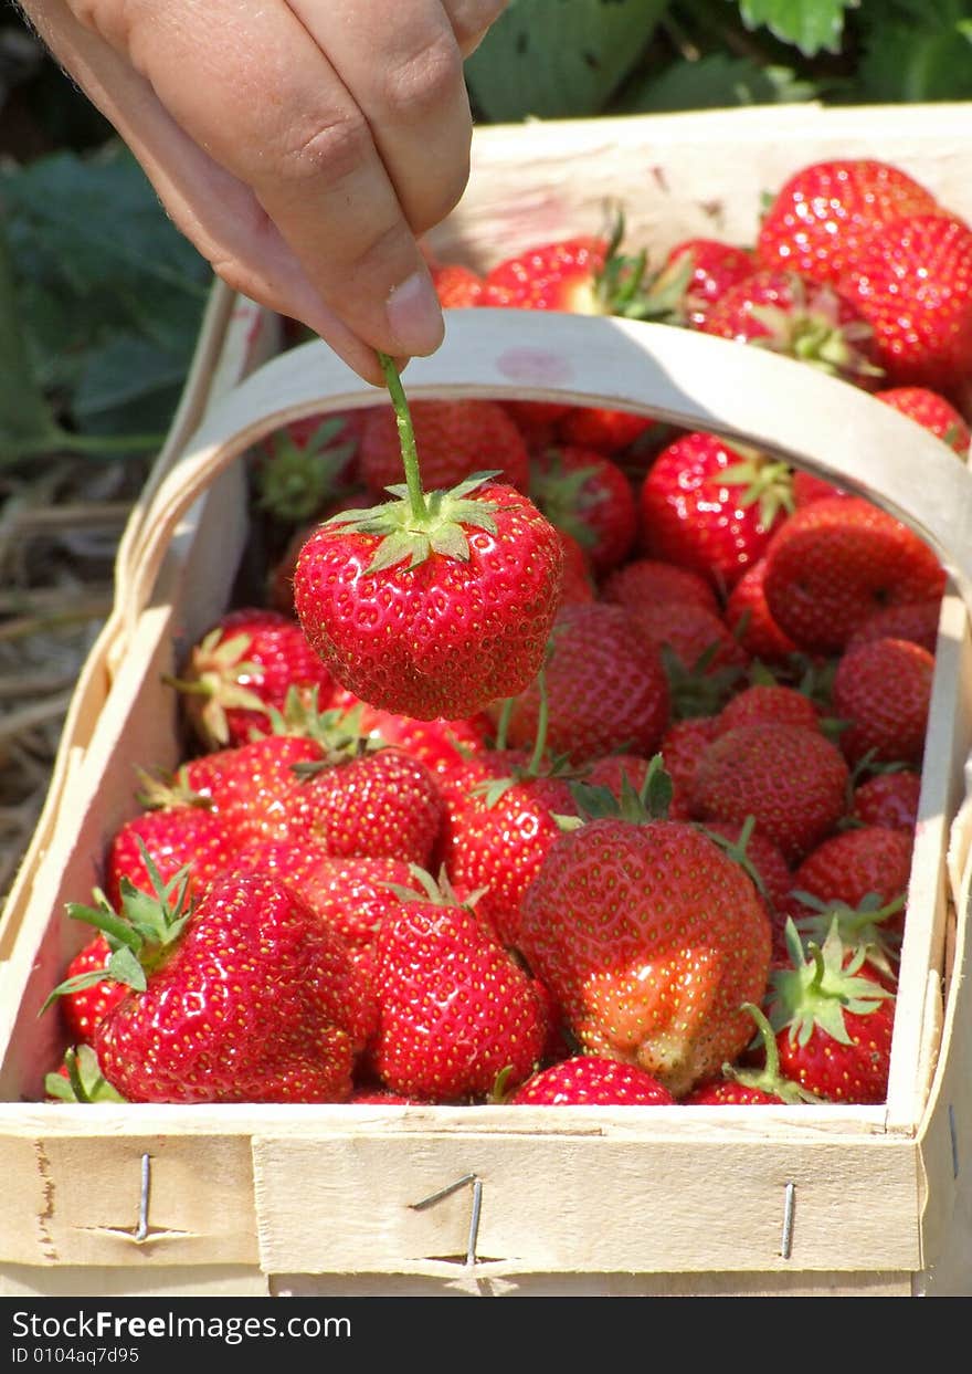
POLYGON ((416 240, 465 188, 463 59, 505 0, 21 5, 233 290, 375 385, 376 350, 438 348, 416 240))

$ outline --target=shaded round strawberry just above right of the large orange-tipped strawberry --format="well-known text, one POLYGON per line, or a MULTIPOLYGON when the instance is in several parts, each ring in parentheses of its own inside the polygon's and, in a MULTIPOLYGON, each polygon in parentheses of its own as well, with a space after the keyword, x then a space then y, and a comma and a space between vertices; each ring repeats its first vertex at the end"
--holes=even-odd
POLYGON ((788 863, 826 835, 847 805, 850 771, 843 754, 803 725, 739 725, 706 749, 692 779, 700 820, 752 816, 788 863))

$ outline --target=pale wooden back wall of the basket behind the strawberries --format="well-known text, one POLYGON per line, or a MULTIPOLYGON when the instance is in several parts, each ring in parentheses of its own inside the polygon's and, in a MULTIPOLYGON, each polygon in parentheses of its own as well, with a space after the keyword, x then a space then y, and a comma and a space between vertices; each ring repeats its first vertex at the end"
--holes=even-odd
POLYGON ((535 243, 596 234, 625 212, 630 250, 658 268, 680 239, 752 243, 765 192, 818 158, 880 157, 972 216, 968 104, 774 106, 476 129, 470 184, 430 235, 443 261, 478 269, 535 243))

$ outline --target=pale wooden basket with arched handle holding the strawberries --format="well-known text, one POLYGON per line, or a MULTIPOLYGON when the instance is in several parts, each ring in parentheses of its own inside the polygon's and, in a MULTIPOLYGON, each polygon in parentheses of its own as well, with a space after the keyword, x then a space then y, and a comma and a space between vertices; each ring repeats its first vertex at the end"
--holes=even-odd
MULTIPOLYGON (((754 129, 741 114, 740 136, 754 129)), ((822 111, 803 114, 820 118, 831 142, 821 129, 796 140, 791 170, 832 151, 840 126, 853 151, 848 117, 833 125, 822 111)), ((733 117, 721 121, 728 146, 733 117)), ((675 176, 692 164, 702 122, 623 121, 625 161, 640 140, 675 176)), ((502 144, 498 131, 485 132, 481 151, 502 144)), ((585 139, 586 148, 608 137, 601 125, 575 132, 560 131, 574 159, 585 139)), ((520 133, 553 137, 549 128, 512 131, 507 144, 520 133)), ((861 143, 869 137, 873 146, 873 131, 861 143)), ((535 180, 544 165, 534 154, 535 180)), ((562 154, 559 165, 570 161, 562 154)), ((566 223, 555 170, 551 203, 566 223)), ((485 195, 478 173, 482 161, 474 209, 485 195)), ((765 184, 781 174, 767 172, 765 184)), ((923 180, 935 185, 928 169, 923 180)), ((673 235, 691 223, 697 194, 670 213, 673 235)), ((443 234, 461 238, 464 223, 459 214, 443 234)), ((479 242, 475 214, 468 223, 479 242)), ((805 364, 663 326, 450 312, 442 349, 410 364, 409 394, 570 398, 715 430, 872 496, 939 552, 950 588, 887 1102, 551 1110, 38 1101, 59 1032, 37 1011, 84 938, 63 905, 88 897, 111 833, 135 813, 136 764, 176 761, 174 694, 161 675, 229 594, 246 543, 239 458, 286 420, 376 400, 321 344, 246 375, 239 337, 224 337, 229 386, 213 387, 211 372, 198 385, 187 403, 195 431, 169 445, 126 532, 115 613, 78 688, 88 703, 97 691, 102 701, 74 717, 0 927, 0 1292, 972 1293, 972 477, 873 397, 805 364)))

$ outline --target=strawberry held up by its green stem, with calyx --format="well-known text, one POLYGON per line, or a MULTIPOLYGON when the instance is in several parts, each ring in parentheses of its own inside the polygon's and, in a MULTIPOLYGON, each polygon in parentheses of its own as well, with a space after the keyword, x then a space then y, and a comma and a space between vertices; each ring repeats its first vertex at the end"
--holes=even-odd
POLYGON ((383 364, 406 482, 395 500, 310 536, 294 605, 332 676, 362 701, 420 720, 471 716, 538 672, 563 550, 527 497, 485 474, 423 492, 405 393, 383 364))

